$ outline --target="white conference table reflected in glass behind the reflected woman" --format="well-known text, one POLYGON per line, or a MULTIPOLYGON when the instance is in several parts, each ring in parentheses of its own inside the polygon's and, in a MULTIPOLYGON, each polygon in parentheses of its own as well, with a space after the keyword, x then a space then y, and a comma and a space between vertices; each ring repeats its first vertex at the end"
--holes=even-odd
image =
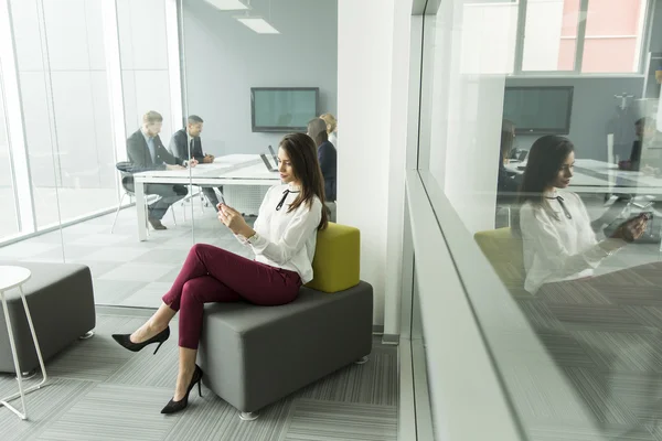
MULTIPOLYGON (((511 173, 524 173, 526 162, 510 162, 511 173)), ((643 172, 619 170, 617 164, 592 159, 575 160, 569 190, 575 193, 628 193, 632 195, 662 195, 662 178, 643 172)))

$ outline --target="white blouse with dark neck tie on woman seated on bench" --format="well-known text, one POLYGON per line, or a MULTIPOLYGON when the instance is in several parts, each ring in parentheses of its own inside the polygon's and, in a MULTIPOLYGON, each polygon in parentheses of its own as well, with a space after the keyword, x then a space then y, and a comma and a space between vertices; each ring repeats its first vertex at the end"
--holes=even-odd
POLYGON ((317 228, 322 219, 322 203, 316 196, 310 208, 307 204, 301 204, 288 213, 289 205, 297 198, 299 191, 292 184, 270 187, 253 226, 257 236, 250 241, 243 236, 236 237, 253 248, 258 262, 296 271, 301 282, 308 283, 312 280, 312 258, 317 245, 317 228), (282 206, 276 209, 284 196, 282 206))

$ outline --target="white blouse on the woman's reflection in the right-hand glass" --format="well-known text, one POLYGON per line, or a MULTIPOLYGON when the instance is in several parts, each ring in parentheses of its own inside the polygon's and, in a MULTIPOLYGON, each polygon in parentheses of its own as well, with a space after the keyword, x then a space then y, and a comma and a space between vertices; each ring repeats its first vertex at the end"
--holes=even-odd
POLYGON ((590 277, 594 269, 611 255, 596 239, 579 196, 557 191, 545 193, 545 197, 546 208, 526 202, 520 211, 526 270, 524 289, 531 293, 543 283, 590 277), (569 217, 562 203, 554 198, 556 196, 563 198, 569 217))

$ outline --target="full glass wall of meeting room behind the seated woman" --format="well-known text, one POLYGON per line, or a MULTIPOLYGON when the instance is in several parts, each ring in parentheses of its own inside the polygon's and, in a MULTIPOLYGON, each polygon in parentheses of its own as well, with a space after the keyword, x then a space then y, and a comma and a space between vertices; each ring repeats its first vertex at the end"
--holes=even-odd
POLYGON ((337 53, 337 13, 334 1, 255 0, 248 19, 276 31, 264 33, 203 0, 0 0, 0 259, 83 263, 97 304, 157 308, 193 244, 252 257, 215 208, 252 223, 279 183, 259 154, 273 163, 285 132, 253 131, 250 90, 318 90, 300 131, 335 114, 337 57, 300 54, 310 34, 337 53), (199 166, 127 169, 149 111, 168 161, 199 166))

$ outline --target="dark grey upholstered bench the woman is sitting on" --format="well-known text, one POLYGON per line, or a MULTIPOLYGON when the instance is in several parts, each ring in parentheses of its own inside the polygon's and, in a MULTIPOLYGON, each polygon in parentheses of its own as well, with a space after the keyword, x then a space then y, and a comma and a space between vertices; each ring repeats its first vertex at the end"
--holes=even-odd
POLYGON ((373 289, 365 282, 334 293, 303 287, 297 300, 280 306, 210 303, 203 320, 203 381, 250 420, 256 410, 366 361, 373 289))

